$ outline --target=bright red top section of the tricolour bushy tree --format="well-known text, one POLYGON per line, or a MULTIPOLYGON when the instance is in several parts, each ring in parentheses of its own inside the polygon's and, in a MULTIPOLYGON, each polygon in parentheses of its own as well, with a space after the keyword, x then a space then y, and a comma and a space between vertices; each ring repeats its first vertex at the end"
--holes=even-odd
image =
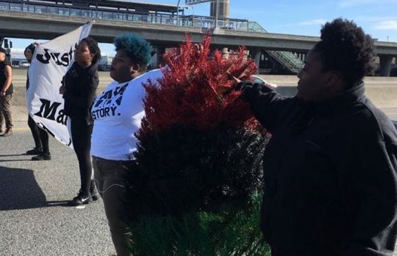
POLYGON ((210 52, 210 37, 202 47, 187 37, 180 53, 170 51, 163 56, 169 69, 164 71, 160 87, 146 84, 146 117, 140 135, 168 129, 175 124, 194 124, 200 129, 215 127, 255 127, 248 105, 234 91, 235 77, 245 79, 256 71, 253 60, 246 60, 243 48, 229 58, 220 51, 210 52))

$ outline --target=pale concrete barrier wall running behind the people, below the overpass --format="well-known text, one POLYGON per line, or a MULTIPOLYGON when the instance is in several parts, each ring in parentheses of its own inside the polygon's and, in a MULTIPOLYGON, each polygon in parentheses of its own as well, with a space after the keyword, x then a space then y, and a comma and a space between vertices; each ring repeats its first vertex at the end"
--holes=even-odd
MULTIPOLYGON (((26 110, 26 69, 13 70, 13 96, 14 120, 27 120, 26 110)), ((285 96, 296 94, 298 77, 293 75, 260 75, 263 79, 273 84, 278 84, 277 91, 285 96)), ((99 72, 98 94, 111 82, 109 72, 99 72)), ((397 108, 397 77, 365 77, 365 94, 379 108, 397 108)))

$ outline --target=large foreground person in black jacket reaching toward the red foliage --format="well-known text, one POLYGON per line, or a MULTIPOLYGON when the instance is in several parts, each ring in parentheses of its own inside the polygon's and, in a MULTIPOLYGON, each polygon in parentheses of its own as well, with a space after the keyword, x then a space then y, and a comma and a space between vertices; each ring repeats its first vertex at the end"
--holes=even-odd
POLYGON ((261 229, 273 256, 393 255, 397 132, 364 94, 373 50, 369 35, 339 18, 308 52, 295 97, 237 84, 272 134, 261 229))

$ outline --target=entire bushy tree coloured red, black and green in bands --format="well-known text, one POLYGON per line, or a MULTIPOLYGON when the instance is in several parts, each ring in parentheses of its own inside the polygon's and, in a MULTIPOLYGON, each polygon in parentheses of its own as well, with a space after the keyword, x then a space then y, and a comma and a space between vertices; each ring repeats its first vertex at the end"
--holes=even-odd
POLYGON ((188 38, 146 84, 146 117, 127 172, 134 255, 269 255, 259 229, 267 134, 234 91, 256 70, 188 38))

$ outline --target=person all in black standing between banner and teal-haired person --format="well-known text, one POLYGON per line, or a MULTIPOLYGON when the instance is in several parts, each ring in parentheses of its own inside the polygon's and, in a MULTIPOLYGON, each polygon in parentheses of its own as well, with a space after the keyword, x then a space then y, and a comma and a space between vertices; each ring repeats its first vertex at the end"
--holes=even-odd
POLYGON ((65 114, 70 117, 73 148, 80 168, 80 191, 70 205, 82 205, 99 199, 91 162, 92 116, 90 108, 99 84, 98 62, 101 50, 91 37, 82 39, 75 50, 75 63, 63 77, 59 93, 65 100, 65 114))

